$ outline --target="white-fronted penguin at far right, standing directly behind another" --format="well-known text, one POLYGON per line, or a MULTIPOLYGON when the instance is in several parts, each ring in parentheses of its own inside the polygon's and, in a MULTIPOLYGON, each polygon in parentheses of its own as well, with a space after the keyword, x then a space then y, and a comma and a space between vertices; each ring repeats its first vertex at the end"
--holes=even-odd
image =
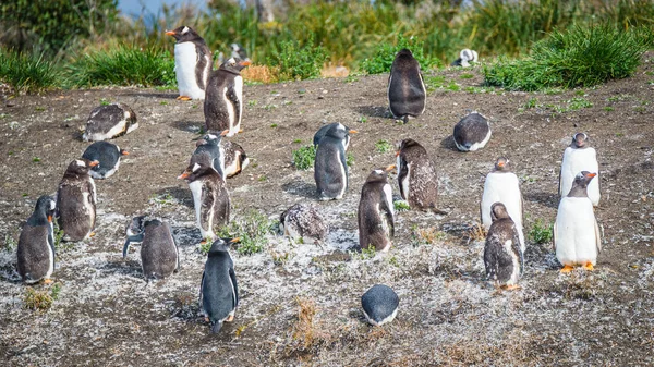
POLYGON ((589 136, 577 133, 572 136, 572 143, 564 152, 564 161, 559 172, 559 195, 568 195, 572 188, 574 176, 581 171, 597 172, 597 178, 589 184, 589 198, 593 206, 600 205, 600 164, 595 149, 589 146, 589 136))

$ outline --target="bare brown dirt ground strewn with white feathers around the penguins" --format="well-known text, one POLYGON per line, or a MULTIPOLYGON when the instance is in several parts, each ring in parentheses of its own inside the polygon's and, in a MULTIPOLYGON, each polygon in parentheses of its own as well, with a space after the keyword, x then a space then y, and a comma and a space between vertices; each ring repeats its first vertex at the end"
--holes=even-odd
MULTIPOLYGON (((177 180, 204 123, 202 102, 137 88, 10 99, 0 106, 1 364, 652 365, 653 58, 646 53, 630 78, 552 94, 483 88, 479 68, 425 73, 426 111, 405 125, 388 115, 388 75, 246 85, 243 132, 233 140, 251 163, 227 182, 232 220, 255 209, 272 222, 294 203, 311 203, 329 234, 320 244, 269 234, 263 252, 232 250, 241 299, 234 322, 215 335, 197 305, 206 255, 193 199, 177 180), (105 99, 136 112, 140 127, 112 140, 130 155, 96 181, 95 236, 60 244, 55 283, 29 289, 15 270, 21 225, 88 145, 78 127, 105 99), (451 133, 467 110, 486 115, 493 136, 464 154, 451 133), (354 162, 344 197, 317 201, 312 170, 295 170, 291 151, 330 122, 359 131, 349 147, 354 162), (604 249, 595 271, 560 274, 552 242, 534 243, 530 232, 554 222, 558 169, 576 132, 597 150, 604 249), (390 250, 358 252, 363 182, 396 159, 376 144, 403 138, 427 149, 447 213, 397 212, 390 250), (499 156, 510 158, 524 196, 525 271, 511 292, 484 280, 484 241, 475 235, 484 178, 499 156), (121 256, 125 223, 143 213, 171 224, 181 257, 178 273, 147 286, 138 253, 121 256), (400 297, 396 320, 383 327, 368 326, 361 310, 361 295, 376 283, 400 297), (33 310, 39 292, 49 307, 33 310)), ((391 181, 397 199, 395 173, 391 181)))

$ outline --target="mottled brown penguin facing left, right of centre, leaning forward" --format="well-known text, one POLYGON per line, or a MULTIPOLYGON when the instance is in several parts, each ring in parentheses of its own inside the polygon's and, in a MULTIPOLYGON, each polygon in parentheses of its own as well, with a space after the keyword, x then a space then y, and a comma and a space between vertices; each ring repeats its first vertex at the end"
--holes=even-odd
POLYGON ((403 139, 396 157, 402 198, 411 208, 437 210, 438 178, 425 148, 414 139, 403 139))

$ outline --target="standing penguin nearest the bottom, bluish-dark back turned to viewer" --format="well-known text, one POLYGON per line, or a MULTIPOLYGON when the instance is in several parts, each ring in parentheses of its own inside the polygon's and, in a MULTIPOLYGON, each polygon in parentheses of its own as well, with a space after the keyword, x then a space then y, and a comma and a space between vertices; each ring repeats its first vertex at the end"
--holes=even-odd
POLYGON ((209 249, 199 288, 199 309, 211 322, 217 333, 222 322, 234 319, 239 305, 239 286, 229 245, 239 238, 217 238, 209 249))

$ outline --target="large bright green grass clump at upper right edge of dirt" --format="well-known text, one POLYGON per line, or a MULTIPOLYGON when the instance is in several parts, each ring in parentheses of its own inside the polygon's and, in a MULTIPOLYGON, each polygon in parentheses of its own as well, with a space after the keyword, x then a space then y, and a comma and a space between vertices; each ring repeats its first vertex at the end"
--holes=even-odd
POLYGON ((634 30, 610 25, 554 30, 534 44, 530 58, 484 68, 485 83, 509 90, 590 87, 632 75, 647 47, 634 30))

